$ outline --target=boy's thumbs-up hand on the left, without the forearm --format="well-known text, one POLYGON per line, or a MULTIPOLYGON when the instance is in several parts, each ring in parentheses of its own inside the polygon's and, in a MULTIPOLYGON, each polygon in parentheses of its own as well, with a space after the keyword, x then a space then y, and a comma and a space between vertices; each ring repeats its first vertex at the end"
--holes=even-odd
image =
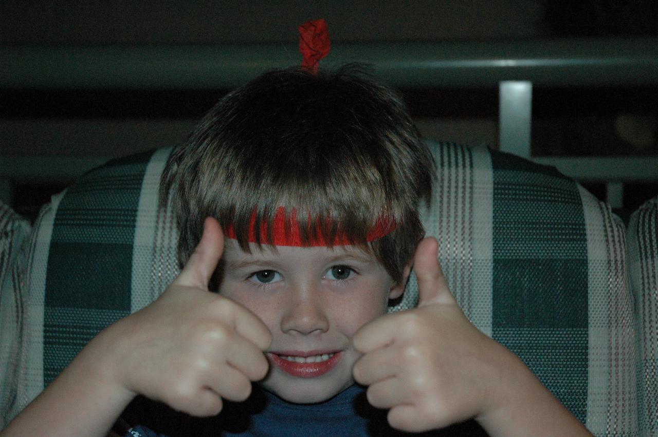
POLYGON ((216 415, 222 398, 249 396, 251 381, 268 371, 263 351, 272 334, 251 311, 209 292, 223 250, 222 229, 207 218, 201 241, 162 296, 93 340, 109 383, 195 416, 216 415))

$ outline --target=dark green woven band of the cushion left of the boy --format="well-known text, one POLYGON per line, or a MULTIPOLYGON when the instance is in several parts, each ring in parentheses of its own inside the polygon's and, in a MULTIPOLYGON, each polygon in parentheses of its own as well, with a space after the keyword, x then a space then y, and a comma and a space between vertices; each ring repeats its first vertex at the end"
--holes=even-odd
POLYGON ((103 327, 130 314, 125 285, 130 283, 139 194, 149 158, 141 154, 99 168, 59 202, 45 277, 45 384, 103 327))

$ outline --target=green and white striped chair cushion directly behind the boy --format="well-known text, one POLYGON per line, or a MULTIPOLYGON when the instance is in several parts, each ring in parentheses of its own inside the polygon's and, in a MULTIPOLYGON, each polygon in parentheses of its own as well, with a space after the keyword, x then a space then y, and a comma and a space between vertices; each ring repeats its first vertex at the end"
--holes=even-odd
MULTIPOLYGON (((638 420, 636 318, 619 219, 553 168, 486 148, 430 146, 439 179, 424 223, 467 316, 594 434, 648 435, 638 420)), ((16 384, 1 388, 5 421, 103 327, 152 302, 178 273, 176 230, 157 209, 169 152, 94 170, 41 213, 16 292, 22 338, 16 384)), ((393 310, 416 300, 412 278, 393 310)))

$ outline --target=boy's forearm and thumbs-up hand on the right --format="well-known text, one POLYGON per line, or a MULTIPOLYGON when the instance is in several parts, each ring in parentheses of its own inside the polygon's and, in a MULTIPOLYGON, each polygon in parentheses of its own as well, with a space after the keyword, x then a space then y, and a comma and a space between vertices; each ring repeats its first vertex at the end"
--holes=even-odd
POLYGON ((437 260, 438 243, 414 258, 420 302, 355 334, 355 380, 388 408, 393 428, 418 432, 476 419, 491 436, 590 436, 519 357, 482 334, 459 309, 437 260))

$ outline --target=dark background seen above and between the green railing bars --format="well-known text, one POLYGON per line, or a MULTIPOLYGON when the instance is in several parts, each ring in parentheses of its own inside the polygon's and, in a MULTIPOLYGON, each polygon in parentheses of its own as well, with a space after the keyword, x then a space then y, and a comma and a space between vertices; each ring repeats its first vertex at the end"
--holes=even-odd
MULTIPOLYGON (((230 44, 297 41, 325 18, 341 41, 494 41, 658 34, 655 0, 3 1, 0 45, 230 44)), ((1 62, 1 60, 0 60, 1 62)), ((293 60, 296 62, 296 60, 293 60)), ((497 89, 403 89, 426 137, 496 147, 497 89)), ((0 89, 1 156, 113 157, 172 145, 226 90, 0 89)), ((658 155, 658 89, 533 90, 533 155, 658 155)), ((70 180, 11 183, 34 218, 70 180)), ((588 184, 599 198, 604 184, 588 184)), ((658 194, 626 184, 624 210, 658 194)))

